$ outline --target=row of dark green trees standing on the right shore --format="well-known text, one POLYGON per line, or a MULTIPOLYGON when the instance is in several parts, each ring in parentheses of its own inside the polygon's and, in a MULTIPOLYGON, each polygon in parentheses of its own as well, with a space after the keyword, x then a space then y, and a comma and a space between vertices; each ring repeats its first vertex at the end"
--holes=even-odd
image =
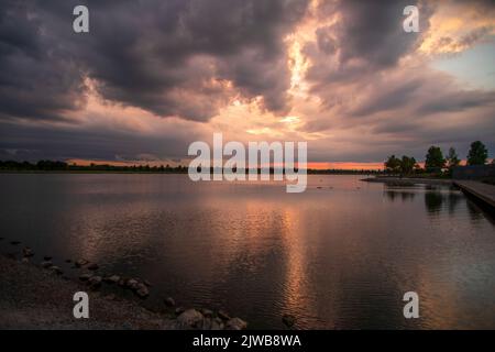
MULTIPOLYGON (((468 165, 485 165, 487 160, 488 150, 486 146, 480 141, 471 143, 468 153, 468 165)), ((450 147, 447 156, 443 156, 442 150, 432 145, 428 148, 425 157, 425 168, 421 168, 414 157, 406 155, 402 158, 391 155, 384 163, 384 166, 387 174, 411 175, 429 173, 450 175, 452 169, 459 166, 461 160, 453 147, 450 147)))

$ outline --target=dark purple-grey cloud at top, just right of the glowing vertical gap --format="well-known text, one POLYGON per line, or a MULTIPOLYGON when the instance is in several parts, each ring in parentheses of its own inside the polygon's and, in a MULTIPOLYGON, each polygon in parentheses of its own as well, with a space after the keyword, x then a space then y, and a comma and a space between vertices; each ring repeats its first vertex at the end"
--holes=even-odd
POLYGON ((419 1, 322 1, 319 15, 338 13, 339 19, 317 29, 317 42, 305 48, 306 54, 317 62, 308 78, 350 81, 366 73, 395 66, 419 43, 419 34, 405 33, 403 29, 403 10, 411 4, 420 9, 420 31, 428 31, 432 9, 419 1), (332 66, 324 64, 329 56, 334 56, 332 66))

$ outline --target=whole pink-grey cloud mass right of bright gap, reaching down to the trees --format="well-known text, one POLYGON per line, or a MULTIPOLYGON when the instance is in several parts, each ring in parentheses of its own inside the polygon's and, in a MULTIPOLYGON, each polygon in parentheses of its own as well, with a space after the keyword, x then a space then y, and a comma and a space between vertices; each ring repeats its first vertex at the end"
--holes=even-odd
MULTIPOLYGON (((432 69, 430 58, 420 51, 431 36, 430 19, 447 1, 435 7, 416 3, 420 9, 418 34, 403 31, 404 18, 397 14, 407 3, 320 4, 334 15, 329 24, 317 26, 302 51, 309 62, 308 90, 319 98, 319 108, 308 114, 301 130, 321 133, 314 145, 338 151, 327 150, 332 161, 376 161, 387 150, 422 157, 420 151, 429 144, 465 148, 470 139, 482 139, 493 147, 494 91, 466 87, 432 69), (346 151, 343 160, 338 154, 342 150, 346 151)), ((321 12, 317 15, 321 18, 321 12)), ((463 50, 485 35, 487 28, 486 21, 477 28, 471 24, 459 40, 463 50)), ((324 161, 324 154, 318 158, 324 161)))

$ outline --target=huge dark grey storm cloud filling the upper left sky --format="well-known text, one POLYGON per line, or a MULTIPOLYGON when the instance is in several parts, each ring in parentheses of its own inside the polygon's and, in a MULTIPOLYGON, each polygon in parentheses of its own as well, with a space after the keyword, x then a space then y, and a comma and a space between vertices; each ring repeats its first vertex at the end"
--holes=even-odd
POLYGON ((103 98, 162 117, 206 121, 239 92, 283 110, 283 40, 307 2, 2 1, 0 113, 58 118, 84 103, 85 77, 103 98), (72 12, 81 3, 90 33, 75 34, 72 12))

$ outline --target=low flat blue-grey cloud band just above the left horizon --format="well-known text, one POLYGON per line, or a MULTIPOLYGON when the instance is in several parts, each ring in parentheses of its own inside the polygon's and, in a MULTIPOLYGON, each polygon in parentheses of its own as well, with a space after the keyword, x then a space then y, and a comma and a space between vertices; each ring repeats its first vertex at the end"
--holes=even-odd
POLYGON ((147 135, 102 128, 57 128, 50 125, 19 125, 0 121, 0 160, 35 162, 43 158, 68 160, 142 160, 143 154, 183 158, 187 147, 198 139, 170 134, 147 135))

